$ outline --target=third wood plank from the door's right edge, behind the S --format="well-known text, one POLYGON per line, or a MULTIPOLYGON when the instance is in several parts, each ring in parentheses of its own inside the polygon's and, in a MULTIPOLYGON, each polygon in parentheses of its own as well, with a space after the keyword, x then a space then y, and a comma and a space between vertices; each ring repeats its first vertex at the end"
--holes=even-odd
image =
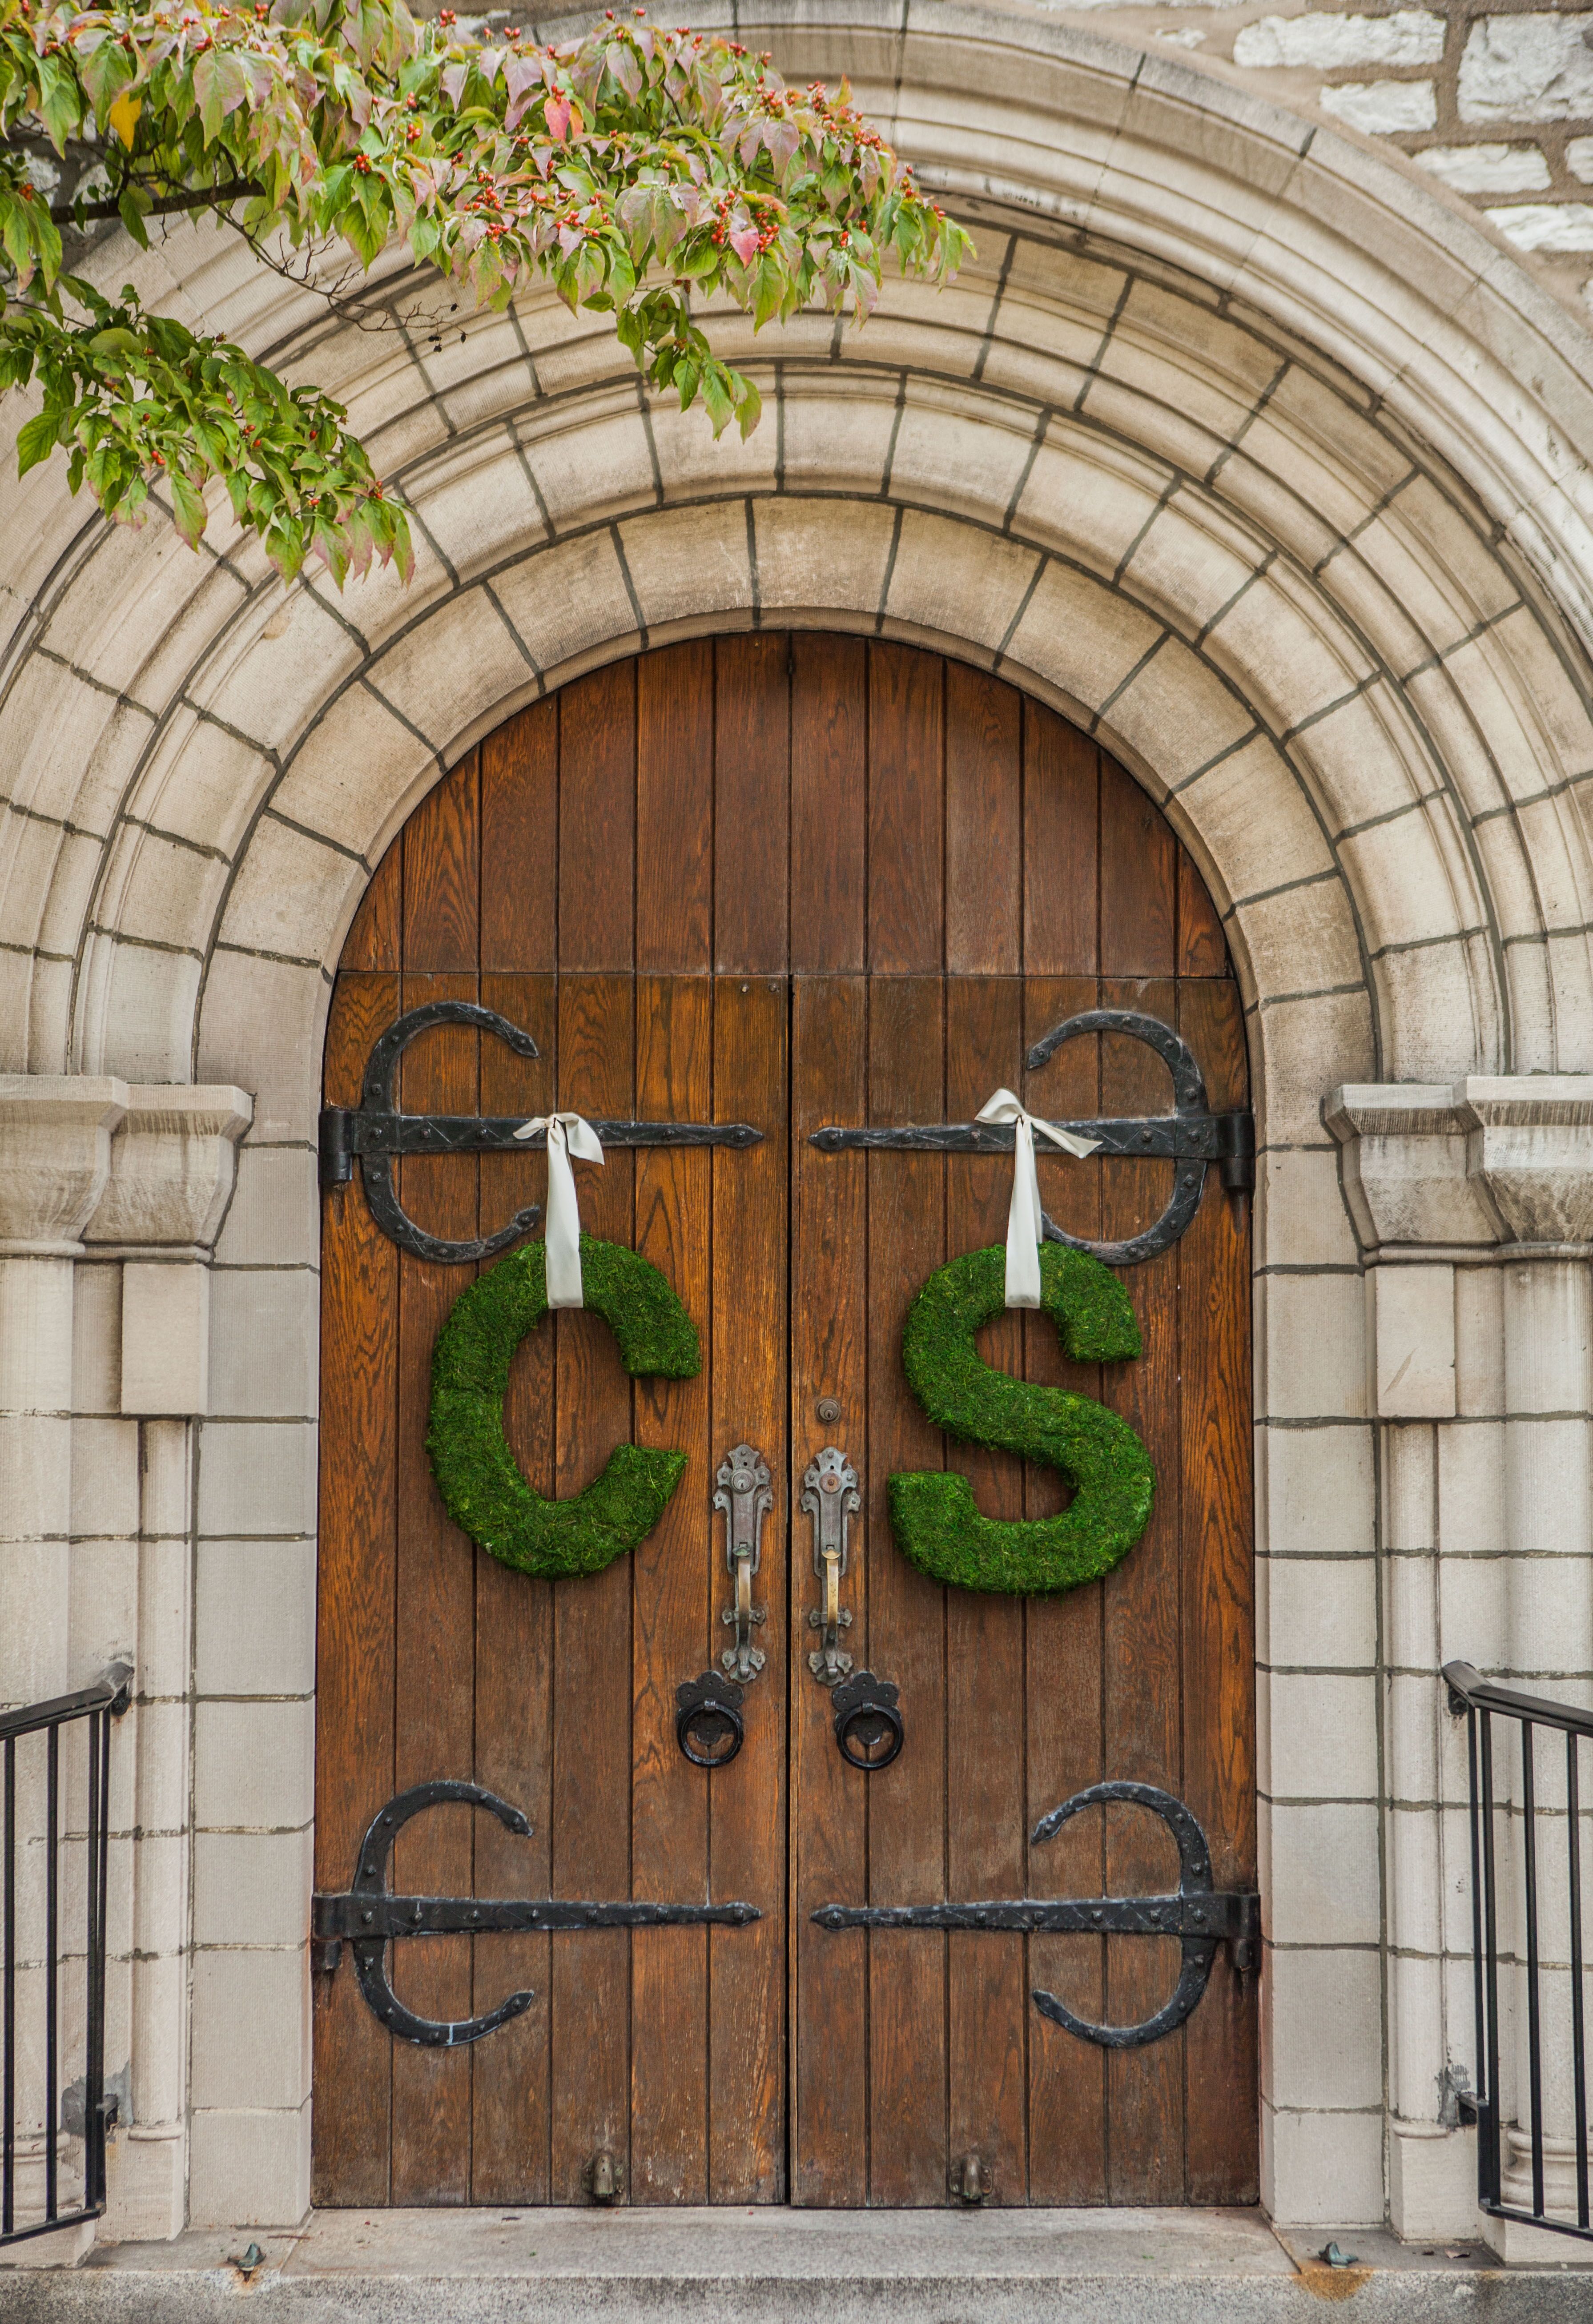
MULTIPOLYGON (((1093 769, 1091 769, 1093 804, 1093 769)), ((1095 888, 1093 851, 1079 876, 1095 888)), ((1084 911, 1074 911, 1084 925, 1084 911)), ((1026 1039, 1033 1043, 1063 1018, 1098 1002, 1093 978, 1030 976, 1023 992, 1026 1039)), ((1023 1104, 1056 1120, 1088 1120, 1100 1111, 1100 1043, 1067 1041, 1040 1074, 1026 1074, 1023 1104)), ((1044 1141, 1040 1141, 1044 1146, 1044 1141)), ((1100 1162, 1042 1160, 1040 1199, 1067 1234, 1100 1241, 1100 1162)), ((1100 1397, 1100 1367, 1063 1353, 1049 1315, 1023 1320, 1023 1378, 1100 1397)), ((1053 1515, 1065 1501, 1060 1480, 1030 1469, 1023 1513, 1053 1515)), ((1028 1815, 1037 1820, 1107 1773, 1102 1755, 1100 1583, 1028 1606, 1028 1815)), ((1079 1815, 1053 1841, 1028 1850, 1028 1896, 1102 1894, 1100 1820, 1079 1815)), ((1081 2017, 1100 2020, 1105 2001, 1105 1943, 1095 1936, 1033 1936, 1028 1985, 1060 1994, 1081 2017)), ((1107 2073, 1105 2052, 1074 2040, 1030 2008, 1028 2020, 1028 2187, 1030 2203, 1107 2201, 1107 2073)))

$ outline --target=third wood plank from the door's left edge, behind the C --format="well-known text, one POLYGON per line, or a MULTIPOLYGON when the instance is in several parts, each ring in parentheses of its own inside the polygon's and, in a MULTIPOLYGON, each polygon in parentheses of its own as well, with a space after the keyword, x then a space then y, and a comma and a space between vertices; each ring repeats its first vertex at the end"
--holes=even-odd
MULTIPOLYGON (((488 765, 491 746, 481 746, 488 765)), ((486 774, 484 774, 486 790, 486 774)), ((481 918, 488 906, 509 944, 512 913, 500 881, 514 853, 484 846, 481 918)), ((486 937, 481 939, 486 944, 486 937)), ((544 941, 551 946, 551 932, 544 941)), ((551 951, 544 953, 544 960, 551 951)), ((540 1057, 516 1057, 502 1041, 481 1041, 481 1111, 547 1113, 558 1064, 558 992, 551 976, 481 976, 481 1002, 521 1025, 540 1057)), ((542 1155, 481 1155, 481 1232, 491 1232, 528 1202, 542 1199, 542 1155)), ((553 1325, 523 1341, 509 1371, 505 1434, 526 1480, 553 1492, 553 1325)), ((533 1580, 477 1548, 477 1783, 523 1808, 530 1838, 505 1831, 493 1815, 477 1817, 477 1896, 549 1894, 549 1803, 553 1738, 553 1585, 533 1580)), ((488 2010, 505 1994, 530 1989, 537 1999, 477 2045, 472 2057, 470 2201, 547 2203, 549 2199, 549 1975, 547 1936, 484 1936, 472 1941, 474 2003, 488 2010)))

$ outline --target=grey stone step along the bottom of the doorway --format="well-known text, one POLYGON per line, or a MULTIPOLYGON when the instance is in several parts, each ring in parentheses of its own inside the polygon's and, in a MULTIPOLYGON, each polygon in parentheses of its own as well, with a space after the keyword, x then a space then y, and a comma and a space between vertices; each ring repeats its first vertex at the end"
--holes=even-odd
MULTIPOLYGON (((1588 2245, 1567 2245, 1567 2261, 1588 2245)), ((2 2324, 1586 2324, 1572 2268, 1256 2210, 323 2210, 0 2271, 2 2324), (1316 2257, 1328 2240, 1358 2266, 1316 2257), (240 2261, 258 2245, 263 2259, 240 2261)))

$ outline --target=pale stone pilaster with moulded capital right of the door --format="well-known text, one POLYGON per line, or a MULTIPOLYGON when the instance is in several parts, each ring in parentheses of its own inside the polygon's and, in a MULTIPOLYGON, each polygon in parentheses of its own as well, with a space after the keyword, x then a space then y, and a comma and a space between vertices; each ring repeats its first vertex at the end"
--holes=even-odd
MULTIPOLYGON (((1451 2236, 1477 2229, 1453 2108, 1474 2036, 1465 1752, 1437 1671, 1593 1687, 1593 1076, 1344 1088, 1323 1118, 1381 1441, 1391 2208, 1407 2236, 1451 2236)), ((1570 2150, 1570 2089, 1544 2103, 1570 2150)))

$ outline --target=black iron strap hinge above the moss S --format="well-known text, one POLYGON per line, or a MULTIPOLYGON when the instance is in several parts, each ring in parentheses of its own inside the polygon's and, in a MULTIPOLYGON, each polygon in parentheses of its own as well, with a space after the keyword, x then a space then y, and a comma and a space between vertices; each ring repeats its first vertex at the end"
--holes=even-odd
MULTIPOLYGON (((1095 1139, 1102 1155, 1135 1162, 1172 1162, 1172 1197, 1144 1234, 1133 1234, 1123 1243, 1086 1243, 1046 1218, 1044 1236, 1051 1243, 1067 1243, 1072 1250, 1088 1250, 1107 1267, 1137 1267, 1170 1250, 1184 1234, 1205 1190, 1207 1164, 1216 1162, 1223 1185, 1233 1195, 1249 1195, 1256 1185, 1256 1116, 1237 1109, 1212 1113, 1205 1076, 1191 1046, 1160 1018, 1142 1016, 1137 1009, 1088 1009, 1084 1016, 1053 1025, 1028 1053, 1030 1074, 1077 1034, 1116 1032, 1130 1041, 1144 1041, 1167 1064, 1172 1074, 1172 1113, 1098 1118, 1088 1122, 1058 1122, 1077 1136, 1095 1139)), ((940 1153, 940 1155, 1000 1155, 1012 1153, 1014 1132, 1000 1122, 902 1122, 900 1127, 842 1129, 828 1122, 814 1129, 809 1146, 819 1153, 940 1153)), ((1044 1155, 1044 1146, 1040 1148, 1044 1155)))

